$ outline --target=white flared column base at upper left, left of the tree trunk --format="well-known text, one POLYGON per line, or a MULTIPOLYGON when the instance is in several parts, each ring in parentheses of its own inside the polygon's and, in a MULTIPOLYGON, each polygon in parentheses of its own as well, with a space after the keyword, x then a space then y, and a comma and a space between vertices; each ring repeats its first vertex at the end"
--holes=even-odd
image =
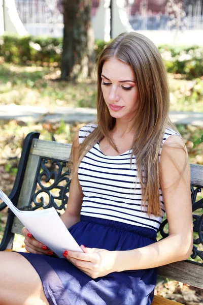
POLYGON ((27 31, 18 16, 15 0, 4 0, 4 17, 6 32, 16 33, 20 36, 27 35, 27 31))

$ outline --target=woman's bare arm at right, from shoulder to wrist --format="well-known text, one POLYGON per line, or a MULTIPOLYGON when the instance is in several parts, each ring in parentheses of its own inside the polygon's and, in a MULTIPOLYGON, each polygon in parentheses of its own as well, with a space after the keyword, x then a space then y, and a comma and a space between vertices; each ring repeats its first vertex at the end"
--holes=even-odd
POLYGON ((160 167, 169 235, 147 247, 117 253, 116 266, 120 266, 116 267, 117 271, 157 267, 187 259, 191 254, 193 233, 189 163, 181 177, 186 154, 183 149, 177 148, 177 144, 183 146, 182 140, 171 136, 166 143, 160 167))

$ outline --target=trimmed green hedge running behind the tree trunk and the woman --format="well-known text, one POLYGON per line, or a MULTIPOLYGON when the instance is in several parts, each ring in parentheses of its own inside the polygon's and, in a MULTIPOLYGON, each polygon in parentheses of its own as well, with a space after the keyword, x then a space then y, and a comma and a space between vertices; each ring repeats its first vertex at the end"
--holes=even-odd
MULTIPOLYGON (((95 40, 96 55, 107 43, 95 40)), ((159 46, 166 70, 169 73, 180 73, 186 79, 202 77, 203 48, 199 46, 159 46)), ((51 37, 18 37, 16 35, 0 36, 0 56, 5 62, 16 64, 57 63, 60 65, 62 38, 51 37)))

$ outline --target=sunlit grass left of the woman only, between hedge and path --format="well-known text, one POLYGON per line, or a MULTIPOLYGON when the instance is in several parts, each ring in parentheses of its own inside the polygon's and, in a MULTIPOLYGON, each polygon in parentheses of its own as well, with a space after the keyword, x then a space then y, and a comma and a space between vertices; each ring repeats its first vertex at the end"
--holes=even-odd
POLYGON ((95 107, 95 85, 91 80, 78 83, 57 81, 54 67, 24 67, 2 63, 0 94, 2 104, 44 107, 95 107))

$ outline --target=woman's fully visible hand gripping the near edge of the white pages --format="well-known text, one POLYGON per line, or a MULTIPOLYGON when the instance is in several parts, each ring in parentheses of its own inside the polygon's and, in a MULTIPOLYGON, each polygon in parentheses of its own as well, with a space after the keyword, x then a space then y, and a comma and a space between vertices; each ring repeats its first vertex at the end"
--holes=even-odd
POLYGON ((81 249, 83 253, 65 251, 63 256, 90 278, 96 279, 98 277, 104 277, 116 271, 116 251, 86 248, 83 245, 81 245, 81 249))

